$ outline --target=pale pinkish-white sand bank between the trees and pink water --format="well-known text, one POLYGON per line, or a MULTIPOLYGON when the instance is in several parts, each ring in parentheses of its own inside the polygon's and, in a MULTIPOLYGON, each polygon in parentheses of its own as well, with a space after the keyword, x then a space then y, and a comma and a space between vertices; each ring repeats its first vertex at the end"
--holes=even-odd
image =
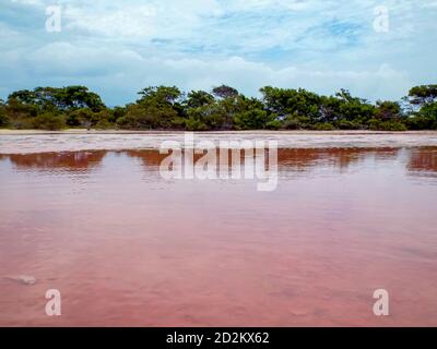
MULTIPOLYGON (((0 154, 35 154, 79 151, 156 149, 165 141, 185 146, 185 132, 173 131, 86 131, 60 132, 0 130, 0 154)), ((276 141, 281 148, 376 148, 436 146, 437 132, 369 131, 226 131, 197 132, 194 144, 212 141, 276 141)))

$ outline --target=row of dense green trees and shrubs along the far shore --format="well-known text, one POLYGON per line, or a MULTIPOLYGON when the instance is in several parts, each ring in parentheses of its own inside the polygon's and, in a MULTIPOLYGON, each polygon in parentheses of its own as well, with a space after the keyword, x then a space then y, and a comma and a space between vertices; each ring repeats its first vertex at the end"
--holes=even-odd
POLYGON ((265 86, 262 98, 222 85, 181 93, 147 87, 123 107, 108 108, 84 86, 37 87, 0 99, 0 128, 61 130, 437 130, 437 85, 413 87, 401 103, 369 101, 342 89, 321 96, 265 86))

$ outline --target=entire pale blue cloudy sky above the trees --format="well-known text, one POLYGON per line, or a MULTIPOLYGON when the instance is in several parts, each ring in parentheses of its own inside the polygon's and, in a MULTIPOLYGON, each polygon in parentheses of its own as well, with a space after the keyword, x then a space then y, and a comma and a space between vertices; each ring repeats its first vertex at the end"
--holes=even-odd
POLYGON ((0 4, 3 99, 15 89, 81 84, 114 106, 149 85, 225 83, 253 96, 264 85, 323 94, 344 87, 375 100, 437 83, 437 0, 0 4), (52 31, 54 5, 61 10, 60 32, 52 31))

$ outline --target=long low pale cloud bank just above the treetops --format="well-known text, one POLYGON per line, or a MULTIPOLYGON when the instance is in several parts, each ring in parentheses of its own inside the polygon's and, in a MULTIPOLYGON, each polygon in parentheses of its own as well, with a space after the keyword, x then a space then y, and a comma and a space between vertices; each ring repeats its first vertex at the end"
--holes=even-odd
MULTIPOLYGON (((9 52, 12 70, 17 56, 9 52)), ((142 57, 132 50, 116 52, 108 48, 76 47, 69 43, 49 44, 27 52, 25 62, 19 65, 32 67, 32 70, 25 70, 26 75, 21 76, 23 82, 45 82, 50 76, 60 85, 87 84, 110 104, 130 101, 138 91, 156 84, 175 84, 188 91, 211 89, 214 85, 226 83, 249 95, 258 95, 258 89, 264 85, 304 87, 323 94, 333 94, 344 87, 370 99, 398 98, 412 84, 405 73, 388 64, 368 71, 312 70, 299 65, 274 69, 241 57, 214 61, 142 57)))

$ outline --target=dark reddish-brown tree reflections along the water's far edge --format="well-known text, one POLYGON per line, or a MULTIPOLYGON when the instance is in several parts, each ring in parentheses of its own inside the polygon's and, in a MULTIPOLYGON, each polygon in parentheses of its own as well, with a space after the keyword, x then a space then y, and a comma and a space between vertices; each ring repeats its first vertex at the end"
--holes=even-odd
MULTIPOLYGON (((305 171, 317 167, 331 167, 340 171, 347 169, 364 160, 395 160, 401 153, 408 159, 406 170, 411 173, 437 173, 437 147, 418 147, 409 149, 399 148, 282 148, 279 149, 279 169, 286 171, 305 171)), ((155 149, 144 151, 93 151, 93 152, 64 152, 42 154, 14 154, 0 155, 0 160, 9 160, 16 170, 40 170, 40 171, 91 171, 99 166, 107 154, 138 158, 144 166, 144 170, 156 170, 162 161, 168 156, 160 154, 155 149)), ((202 155, 194 155, 197 161, 202 155)), ((228 165, 233 166, 231 161, 228 165)), ((241 155, 241 167, 245 157, 241 155)))

